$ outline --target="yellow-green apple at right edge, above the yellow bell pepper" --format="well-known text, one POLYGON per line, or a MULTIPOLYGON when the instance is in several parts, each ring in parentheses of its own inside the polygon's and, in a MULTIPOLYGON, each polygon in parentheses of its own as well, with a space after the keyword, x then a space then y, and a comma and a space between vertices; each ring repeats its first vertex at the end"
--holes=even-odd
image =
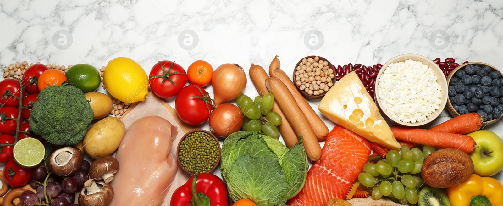
POLYGON ((473 173, 492 176, 503 169, 503 140, 492 131, 478 130, 467 134, 477 143, 478 148, 470 154, 473 173))

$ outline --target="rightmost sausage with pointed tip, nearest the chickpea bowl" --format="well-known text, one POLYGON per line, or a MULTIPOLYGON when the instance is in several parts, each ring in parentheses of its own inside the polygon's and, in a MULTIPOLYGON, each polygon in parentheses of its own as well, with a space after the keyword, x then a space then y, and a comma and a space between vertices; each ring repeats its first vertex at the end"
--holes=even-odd
MULTIPOLYGON (((313 108, 307 103, 306 99, 300 94, 297 90, 296 86, 290 81, 290 78, 286 75, 286 73, 280 68, 280 60, 278 59, 278 55, 274 57, 271 65, 269 65, 269 75, 271 77, 278 78, 282 81, 290 93, 292 94, 295 102, 299 108, 303 111, 304 115, 307 119, 309 119, 309 125, 311 125, 314 134, 318 140, 325 140, 326 135, 328 135, 328 127, 326 124, 319 118, 313 108)), ((276 97, 276 95, 275 95, 276 97)))

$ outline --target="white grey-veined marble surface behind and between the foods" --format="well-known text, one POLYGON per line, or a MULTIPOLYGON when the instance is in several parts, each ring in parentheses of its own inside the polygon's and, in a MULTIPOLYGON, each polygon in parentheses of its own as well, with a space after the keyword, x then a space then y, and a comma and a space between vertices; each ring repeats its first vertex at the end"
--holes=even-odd
MULTIPOLYGON (((503 68, 502 19, 499 0, 0 0, 0 65, 40 61, 99 68, 126 56, 147 73, 158 60, 187 68, 200 59, 214 68, 237 63, 247 71, 251 63, 267 68, 279 55, 291 74, 308 55, 334 65, 370 65, 417 53, 503 68)), ((213 94, 211 86, 206 89, 213 94)), ((249 78, 245 94, 258 95, 249 78)), ((174 106, 174 99, 166 101, 174 106)), ((316 108, 318 102, 310 104, 316 108)), ((334 126, 322 118, 329 129, 334 126)), ((449 118, 444 111, 432 125, 449 118)), ((503 136, 502 126, 498 121, 484 129, 503 136)), ((496 177, 503 181, 501 173, 496 177)))

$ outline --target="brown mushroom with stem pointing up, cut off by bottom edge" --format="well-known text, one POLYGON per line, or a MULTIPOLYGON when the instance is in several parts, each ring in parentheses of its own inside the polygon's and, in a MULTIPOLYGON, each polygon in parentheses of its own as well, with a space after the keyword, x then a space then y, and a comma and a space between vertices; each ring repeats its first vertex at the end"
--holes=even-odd
POLYGON ((108 205, 114 197, 114 189, 109 183, 103 181, 95 182, 89 179, 84 183, 84 187, 78 195, 78 204, 81 206, 102 206, 108 205), (98 184, 103 187, 100 189, 98 184))

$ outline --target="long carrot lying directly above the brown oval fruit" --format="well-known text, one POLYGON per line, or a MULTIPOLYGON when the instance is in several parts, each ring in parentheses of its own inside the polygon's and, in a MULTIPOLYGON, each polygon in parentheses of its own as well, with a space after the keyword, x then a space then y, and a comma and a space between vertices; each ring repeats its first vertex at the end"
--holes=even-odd
POLYGON ((432 131, 428 129, 404 128, 391 126, 393 135, 398 140, 404 140, 420 145, 429 145, 436 148, 457 148, 468 154, 476 148, 476 142, 471 136, 455 134, 443 131, 432 131))

